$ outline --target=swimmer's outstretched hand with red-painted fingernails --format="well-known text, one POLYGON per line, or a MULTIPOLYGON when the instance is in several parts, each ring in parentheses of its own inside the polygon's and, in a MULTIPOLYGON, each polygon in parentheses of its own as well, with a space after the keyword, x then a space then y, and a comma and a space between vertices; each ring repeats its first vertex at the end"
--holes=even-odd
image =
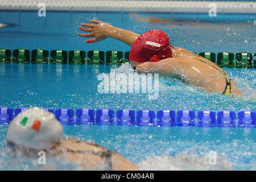
POLYGON ((90 20, 90 23, 81 23, 81 26, 79 29, 81 31, 89 32, 88 34, 79 34, 79 36, 82 36, 84 38, 92 38, 86 40, 86 43, 94 43, 94 42, 100 42, 101 40, 104 40, 108 38, 108 35, 106 32, 110 30, 112 26, 109 23, 101 22, 99 20, 90 20), (92 24, 96 23, 96 24, 92 24), (88 27, 88 28, 85 28, 88 27))

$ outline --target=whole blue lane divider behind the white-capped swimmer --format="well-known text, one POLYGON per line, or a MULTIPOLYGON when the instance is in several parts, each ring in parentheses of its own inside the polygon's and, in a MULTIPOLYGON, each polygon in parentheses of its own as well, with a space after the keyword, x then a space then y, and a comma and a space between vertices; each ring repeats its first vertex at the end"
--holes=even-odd
MULTIPOLYGON (((0 107, 0 124, 10 123, 14 115, 28 109, 21 107, 11 109, 0 107)), ((63 125, 123 125, 123 126, 198 126, 198 127, 256 127, 255 111, 240 111, 236 115, 234 111, 203 110, 197 113, 192 110, 138 110, 122 109, 115 111, 112 109, 93 109, 82 108, 76 111, 67 108, 57 110, 44 109, 55 114, 57 120, 63 125), (136 117, 135 117, 136 113, 136 117), (136 119, 135 119, 136 118, 136 119)))

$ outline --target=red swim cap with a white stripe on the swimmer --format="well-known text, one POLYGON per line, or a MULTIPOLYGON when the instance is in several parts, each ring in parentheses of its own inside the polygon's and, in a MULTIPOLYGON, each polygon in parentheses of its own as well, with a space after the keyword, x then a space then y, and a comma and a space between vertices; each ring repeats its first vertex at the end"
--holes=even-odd
POLYGON ((148 59, 148 61, 156 62, 168 57, 172 57, 171 46, 166 46, 168 43, 169 37, 166 35, 166 33, 160 30, 150 30, 135 40, 133 46, 131 46, 129 59, 131 61, 143 63, 148 59), (161 48, 163 49, 159 51, 161 48), (154 53, 156 54, 154 55, 154 53))

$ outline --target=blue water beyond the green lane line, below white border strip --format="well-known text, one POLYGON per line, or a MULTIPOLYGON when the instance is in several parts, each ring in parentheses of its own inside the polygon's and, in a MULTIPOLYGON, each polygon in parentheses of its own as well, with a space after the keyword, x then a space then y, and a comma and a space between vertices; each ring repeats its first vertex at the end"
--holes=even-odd
POLYGON ((97 18, 114 26, 142 34, 150 29, 166 32, 174 45, 195 52, 255 53, 256 14, 163 14, 163 13, 66 13, 47 11, 39 17, 37 11, 0 11, 0 23, 13 23, 14 27, 0 28, 1 47, 15 49, 82 49, 85 51, 119 49, 129 51, 124 43, 114 39, 86 44, 77 36, 82 22, 97 18), (148 23, 148 16, 174 19, 176 23, 148 23), (28 20, 29 19, 29 20, 28 20), (184 22, 185 21, 185 22, 184 22))

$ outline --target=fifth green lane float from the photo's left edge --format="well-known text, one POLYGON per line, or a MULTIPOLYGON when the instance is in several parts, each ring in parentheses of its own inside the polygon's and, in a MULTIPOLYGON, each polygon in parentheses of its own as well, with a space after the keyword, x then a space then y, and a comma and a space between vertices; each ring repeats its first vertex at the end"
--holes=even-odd
POLYGON ((73 50, 68 52, 68 64, 88 64, 85 60, 85 51, 73 50))

